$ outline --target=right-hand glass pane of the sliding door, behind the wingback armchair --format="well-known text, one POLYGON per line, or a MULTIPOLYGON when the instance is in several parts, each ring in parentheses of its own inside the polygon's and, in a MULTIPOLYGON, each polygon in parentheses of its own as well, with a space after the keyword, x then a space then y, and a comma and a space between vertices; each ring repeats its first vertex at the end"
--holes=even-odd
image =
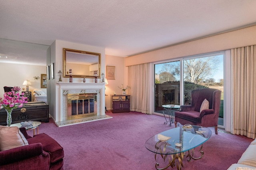
POLYGON ((224 125, 224 52, 183 59, 184 104, 191 103, 191 91, 214 88, 222 91, 218 125, 224 125))

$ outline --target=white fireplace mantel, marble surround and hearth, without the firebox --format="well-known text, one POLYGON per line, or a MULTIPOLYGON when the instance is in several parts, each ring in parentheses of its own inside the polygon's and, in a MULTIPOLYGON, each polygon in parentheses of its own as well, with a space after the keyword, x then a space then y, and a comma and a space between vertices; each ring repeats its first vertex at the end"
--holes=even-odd
MULTIPOLYGON (((67 94, 87 94, 87 93, 97 93, 97 115, 95 120, 105 118, 105 83, 69 83, 69 82, 57 82, 59 85, 59 100, 60 100, 60 118, 56 124, 60 127, 62 125, 70 125, 67 121, 67 94)), ((92 120, 93 118, 89 117, 87 119, 92 120)), ((76 123, 84 123, 88 121, 87 119, 79 121, 74 119, 76 123)), ((94 121, 94 120, 92 120, 94 121)), ((76 124, 75 123, 75 124, 76 124)))

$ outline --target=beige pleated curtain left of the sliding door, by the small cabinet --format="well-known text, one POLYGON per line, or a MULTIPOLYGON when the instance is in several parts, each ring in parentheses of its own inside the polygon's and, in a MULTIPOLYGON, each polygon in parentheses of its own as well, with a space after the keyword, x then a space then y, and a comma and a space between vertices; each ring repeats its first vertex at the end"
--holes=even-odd
POLYGON ((130 110, 149 114, 149 63, 128 66, 130 110))

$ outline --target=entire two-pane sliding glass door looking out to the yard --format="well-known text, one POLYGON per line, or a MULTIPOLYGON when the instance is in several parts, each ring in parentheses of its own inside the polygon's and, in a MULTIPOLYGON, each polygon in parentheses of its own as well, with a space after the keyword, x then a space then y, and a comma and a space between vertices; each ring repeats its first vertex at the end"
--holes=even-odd
POLYGON ((154 64, 154 112, 162 113, 165 104, 191 104, 194 89, 215 88, 222 91, 218 124, 224 126, 223 59, 224 52, 219 52, 154 64))

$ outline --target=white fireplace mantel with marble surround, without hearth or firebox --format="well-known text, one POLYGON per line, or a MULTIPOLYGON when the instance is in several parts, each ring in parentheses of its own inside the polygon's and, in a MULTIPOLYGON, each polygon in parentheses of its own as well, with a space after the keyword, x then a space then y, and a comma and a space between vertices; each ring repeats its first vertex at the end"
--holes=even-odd
MULTIPOLYGON (((66 93, 98 93, 98 113, 105 115, 105 83, 84 83, 84 82, 56 82, 56 94, 58 94, 59 114, 56 121, 65 121, 66 118, 66 93)), ((56 114, 57 115, 57 114, 56 114)))

